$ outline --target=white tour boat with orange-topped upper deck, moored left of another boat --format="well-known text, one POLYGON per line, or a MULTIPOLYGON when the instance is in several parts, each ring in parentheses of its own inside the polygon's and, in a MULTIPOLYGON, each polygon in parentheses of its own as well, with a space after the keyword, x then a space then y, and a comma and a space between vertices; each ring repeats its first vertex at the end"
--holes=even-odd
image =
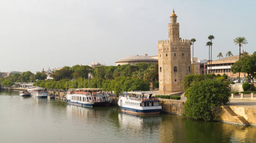
POLYGON ((67 91, 67 103, 79 106, 109 106, 112 102, 108 92, 102 89, 71 89, 67 91))

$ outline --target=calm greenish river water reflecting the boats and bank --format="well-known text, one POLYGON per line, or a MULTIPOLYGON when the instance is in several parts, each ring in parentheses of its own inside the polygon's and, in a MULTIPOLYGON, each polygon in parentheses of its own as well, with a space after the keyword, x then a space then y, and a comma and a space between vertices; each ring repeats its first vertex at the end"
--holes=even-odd
POLYGON ((251 143, 256 127, 160 113, 138 116, 119 107, 84 108, 55 99, 0 92, 0 143, 251 143))

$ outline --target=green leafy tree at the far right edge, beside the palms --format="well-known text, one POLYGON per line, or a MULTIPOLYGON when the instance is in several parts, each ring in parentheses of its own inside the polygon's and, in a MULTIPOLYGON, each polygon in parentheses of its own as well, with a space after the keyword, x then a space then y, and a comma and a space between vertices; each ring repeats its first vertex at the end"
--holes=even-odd
MULTIPOLYGON (((256 76, 256 52, 252 56, 243 55, 241 59, 236 61, 231 67, 231 71, 236 74, 240 72, 247 73, 253 83, 253 78, 256 76)), ((253 84, 251 84, 253 86, 253 84)))

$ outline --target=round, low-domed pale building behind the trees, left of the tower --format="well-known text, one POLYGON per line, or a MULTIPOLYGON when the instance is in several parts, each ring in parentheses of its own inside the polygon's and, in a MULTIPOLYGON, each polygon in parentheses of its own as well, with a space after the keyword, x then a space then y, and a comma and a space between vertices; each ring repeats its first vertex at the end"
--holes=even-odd
POLYGON ((138 63, 145 63, 145 64, 157 64, 158 59, 156 59, 157 56, 152 56, 149 57, 148 54, 144 54, 144 56, 139 56, 138 54, 136 56, 130 56, 130 57, 125 57, 123 59, 120 59, 115 62, 116 66, 120 66, 123 64, 130 64, 130 65, 135 65, 138 63))

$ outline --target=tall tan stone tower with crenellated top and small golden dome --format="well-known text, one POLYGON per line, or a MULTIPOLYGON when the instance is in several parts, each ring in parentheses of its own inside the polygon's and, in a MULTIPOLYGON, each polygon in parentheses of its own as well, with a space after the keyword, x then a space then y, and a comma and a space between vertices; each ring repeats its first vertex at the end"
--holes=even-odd
POLYGON ((169 39, 158 41, 160 94, 183 91, 181 81, 191 74, 190 40, 179 37, 179 23, 174 10, 170 18, 169 39))

